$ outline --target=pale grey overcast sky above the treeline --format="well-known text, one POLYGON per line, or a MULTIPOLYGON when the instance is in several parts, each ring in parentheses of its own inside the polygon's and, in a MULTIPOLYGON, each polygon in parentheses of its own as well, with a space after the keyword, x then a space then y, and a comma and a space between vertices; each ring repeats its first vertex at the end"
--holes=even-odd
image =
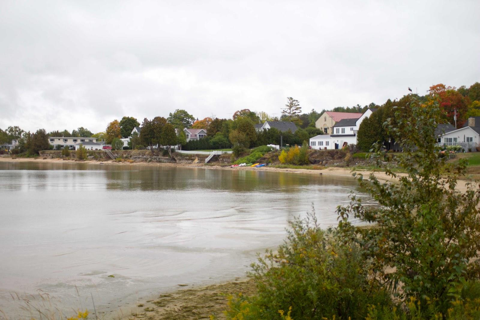
POLYGON ((480 81, 480 1, 0 1, 0 128, 383 104, 480 81), (421 2, 421 3, 420 3, 421 2))

